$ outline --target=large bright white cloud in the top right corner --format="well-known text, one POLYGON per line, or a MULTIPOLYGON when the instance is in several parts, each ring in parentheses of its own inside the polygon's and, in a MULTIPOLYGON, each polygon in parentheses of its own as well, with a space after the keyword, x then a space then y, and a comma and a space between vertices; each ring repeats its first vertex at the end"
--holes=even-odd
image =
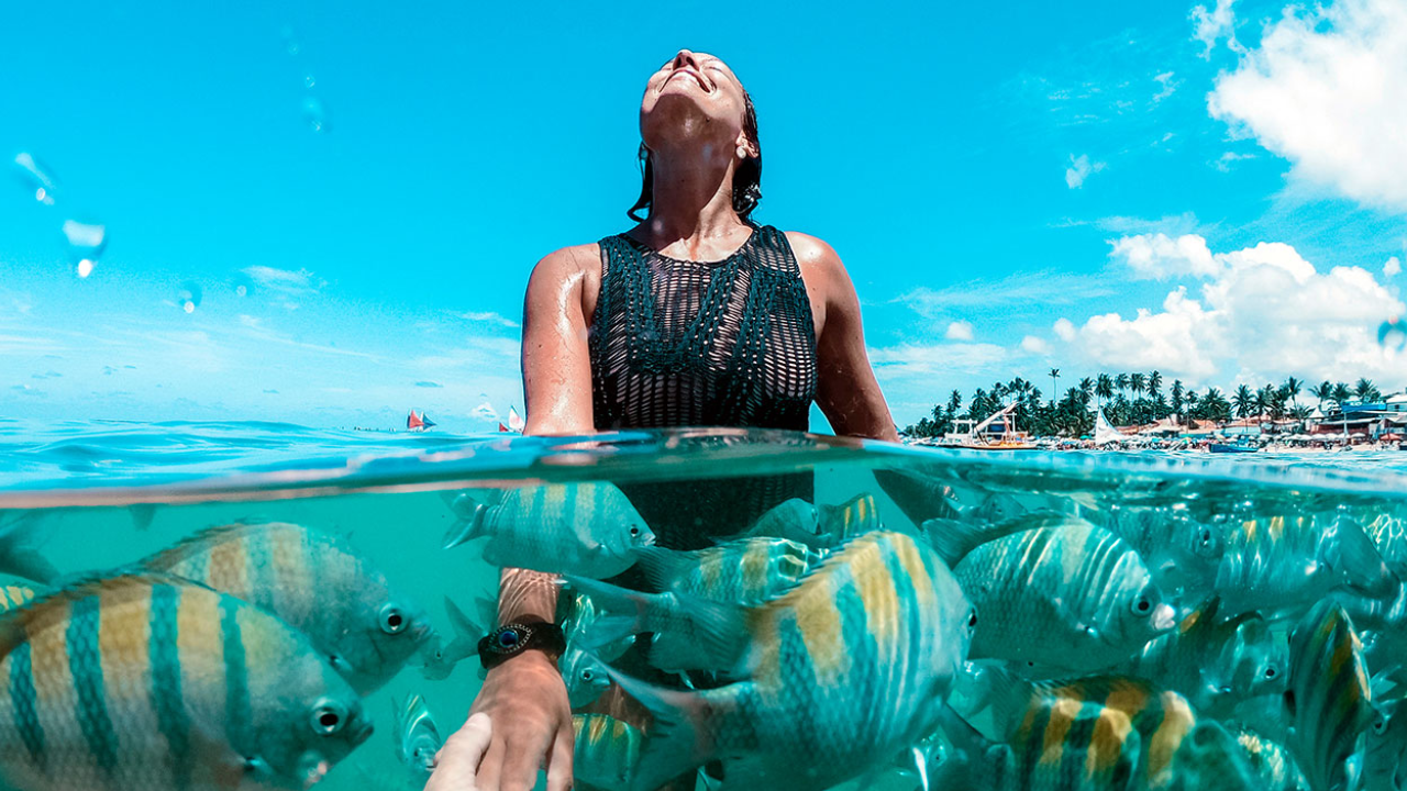
POLYGON ((1207 106, 1238 134, 1289 159, 1293 176, 1407 211, 1403 75, 1407 3, 1292 6, 1258 49, 1217 77, 1207 106))

